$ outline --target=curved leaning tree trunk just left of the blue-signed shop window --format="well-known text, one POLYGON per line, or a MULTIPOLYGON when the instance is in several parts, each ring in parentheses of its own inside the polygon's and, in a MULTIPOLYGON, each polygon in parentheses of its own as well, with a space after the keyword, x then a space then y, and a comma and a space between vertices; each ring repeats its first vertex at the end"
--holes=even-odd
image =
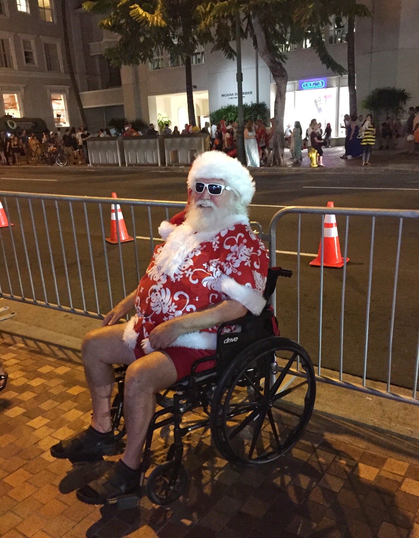
POLYGON ((273 155, 272 164, 274 166, 288 166, 284 158, 284 111, 285 111, 285 94, 287 93, 288 73, 283 64, 275 58, 275 55, 269 51, 266 43, 262 23, 257 16, 252 17, 253 29, 257 39, 257 48, 261 58, 268 66, 276 83, 276 97, 274 104, 274 138, 272 142, 273 155))

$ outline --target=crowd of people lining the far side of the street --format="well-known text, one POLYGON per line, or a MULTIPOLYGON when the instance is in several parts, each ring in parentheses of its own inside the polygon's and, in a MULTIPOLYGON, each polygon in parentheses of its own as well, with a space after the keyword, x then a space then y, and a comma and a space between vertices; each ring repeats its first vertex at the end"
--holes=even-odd
MULTIPOLYGON (((247 166, 259 167, 270 166, 272 157, 272 139, 274 136, 275 118, 270 120, 271 126, 264 125, 262 119, 248 119, 243 124, 245 138, 245 153, 247 166)), ((210 137, 211 150, 222 151, 230 157, 237 155, 237 130, 238 122, 224 119, 211 126, 209 122, 200 129, 198 126, 185 123, 184 129, 179 131, 177 125, 173 130, 170 124, 166 123, 161 133, 165 136, 176 136, 182 134, 204 133, 210 137)), ((419 107, 409 108, 409 115, 404 125, 399 118, 394 121, 387 117, 381 123, 379 128, 374 124, 373 117, 368 114, 364 116, 350 116, 345 114, 341 129, 345 129, 345 153, 341 159, 362 158, 362 165, 370 165, 372 148, 375 145, 375 139, 379 136, 380 150, 384 147, 388 150, 390 145, 397 143, 397 140, 403 138, 407 143, 407 153, 419 156, 419 107)), ((150 123, 148 128, 138 130, 127 123, 123 128, 123 137, 136 136, 157 136, 159 131, 155 129, 154 124, 150 123)), ((110 137, 115 136, 108 128, 99 129, 94 136, 110 137)), ((0 133, 0 165, 17 165, 22 162, 29 164, 31 155, 40 154, 42 151, 48 151, 62 148, 70 164, 89 164, 89 154, 87 151, 87 140, 92 134, 86 127, 81 126, 66 128, 64 133, 62 128, 57 131, 44 131, 42 136, 34 133, 28 133, 25 130, 18 131, 16 134, 10 134, 2 131, 0 133)), ((323 163, 323 148, 330 147, 332 138, 332 127, 327 123, 323 131, 322 124, 313 118, 310 125, 305 131, 303 137, 303 128, 301 123, 296 121, 294 127, 291 124, 285 129, 285 145, 289 147, 293 164, 300 164, 303 160, 302 151, 305 148, 314 148, 317 151, 317 165, 325 166, 323 163)))

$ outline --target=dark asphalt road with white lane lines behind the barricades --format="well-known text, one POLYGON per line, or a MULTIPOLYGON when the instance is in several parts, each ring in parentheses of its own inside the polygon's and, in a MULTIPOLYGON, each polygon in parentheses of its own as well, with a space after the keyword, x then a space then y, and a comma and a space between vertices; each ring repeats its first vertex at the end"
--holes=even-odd
MULTIPOLYGON (((153 200, 186 200, 185 179, 187 168, 173 169, 111 169, 72 167, 0 168, 0 189, 14 192, 37 192, 81 196, 110 196, 115 191, 118 197, 153 200)), ((326 206, 330 200, 336 207, 419 209, 419 177, 417 172, 383 173, 360 169, 358 173, 337 171, 298 170, 281 173, 259 172, 255 176, 256 195, 250 210, 250 217, 268 230, 271 217, 282 206, 326 206)), ((65 247, 66 264, 62 254, 59 236, 57 209, 51 202, 45 203, 45 217, 50 230, 51 253, 57 275, 57 289, 62 305, 68 306, 69 294, 66 284, 65 266, 71 282, 72 304, 76 308, 96 310, 93 286, 94 274, 99 291, 97 304, 100 312, 109 308, 108 281, 103 254, 103 237, 100 214, 97 206, 87 204, 89 236, 83 204, 73 204, 75 238, 80 258, 76 256, 74 233, 68 204, 60 204, 60 224, 65 247), (92 248, 90 257, 88 237, 92 248), (80 264, 80 268, 79 268, 80 264), (83 280, 83 294, 80 287, 83 280)), ((37 230, 37 244, 33 233, 30 207, 27 201, 20 202, 26 247, 32 271, 32 284, 27 271, 22 229, 19 222, 16 201, 9 201, 9 211, 15 224, 13 236, 22 287, 25 296, 32 297, 32 286, 37 298, 44 297, 40 278, 43 269, 45 291, 50 302, 56 303, 55 283, 51 271, 51 256, 45 230, 43 208, 33 202, 32 214, 37 230)), ((109 232, 109 206, 103 206, 103 220, 106 233, 109 232)), ((174 211, 171 211, 173 214, 174 211)), ((132 234, 131 210, 124 210, 128 231, 132 234)), ((134 210, 137 237, 149 235, 148 215, 144 208, 134 210)), ((164 211, 152 211, 153 236, 157 237, 158 223, 164 218, 164 211)), ((285 216, 277 228, 277 264, 296 271, 297 222, 294 215, 285 216)), ((345 218, 338 218, 341 250, 344 248, 345 218)), ((387 379, 389 357, 389 330, 394 286, 399 221, 379 218, 375 226, 373 275, 371 289, 371 313, 369 317, 367 378, 384 381, 387 379)), ((13 246, 8 230, 1 233, 6 257, 9 261, 7 274, 3 252, 0 252, 0 285, 4 293, 9 293, 9 279, 16 295, 20 295, 20 284, 13 261, 13 246)), ((392 383, 411 387, 413 383, 418 334, 418 284, 417 266, 417 221, 405 219, 403 222, 400 268, 397 279, 397 301, 395 310, 394 337, 392 345, 392 383)), ((301 224, 301 252, 309 254, 301 257, 301 312, 300 341, 309 351, 313 362, 318 362, 319 349, 319 292, 320 271, 309 262, 317 254, 320 240, 320 217, 303 216, 301 224), (311 255, 310 255, 311 254, 311 255)), ((364 345, 366 340, 366 304, 368 286, 369 249, 371 245, 371 218, 351 217, 348 230, 348 256, 345 288, 345 318, 343 370, 346 373, 362 375, 364 345)), ((138 239, 138 270, 142 274, 150 259, 150 246, 146 239, 138 239)), ((122 275, 119 265, 118 247, 107 244, 110 284, 114 303, 123 294, 122 275)), ((127 292, 137 284, 134 243, 122 245, 124 261, 124 282, 127 292)), ((296 274, 296 273, 295 273, 296 274)), ((322 365, 330 369, 339 368, 339 331, 341 309, 341 287, 343 271, 325 268, 323 289, 322 322, 322 365)), ((296 286, 297 279, 281 279, 277 293, 277 315, 281 334, 296 339, 296 286)))

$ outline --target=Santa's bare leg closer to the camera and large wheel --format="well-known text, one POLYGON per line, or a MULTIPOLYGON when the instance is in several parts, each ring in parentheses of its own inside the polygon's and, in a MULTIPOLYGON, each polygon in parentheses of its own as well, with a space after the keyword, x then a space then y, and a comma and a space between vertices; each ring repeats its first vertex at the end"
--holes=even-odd
POLYGON ((156 392, 177 380, 172 360, 163 351, 155 351, 132 363, 125 376, 124 419, 127 445, 122 460, 131 469, 141 463, 145 436, 156 410, 156 392))

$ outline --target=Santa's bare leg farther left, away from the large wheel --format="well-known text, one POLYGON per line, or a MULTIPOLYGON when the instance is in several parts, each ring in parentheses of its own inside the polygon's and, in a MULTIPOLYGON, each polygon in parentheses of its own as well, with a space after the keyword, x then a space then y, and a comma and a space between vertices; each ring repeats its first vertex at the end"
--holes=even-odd
POLYGON ((92 397, 92 426, 103 433, 110 431, 110 398, 115 383, 113 364, 131 364, 134 351, 122 341, 125 324, 108 325, 88 332, 81 354, 92 397))

